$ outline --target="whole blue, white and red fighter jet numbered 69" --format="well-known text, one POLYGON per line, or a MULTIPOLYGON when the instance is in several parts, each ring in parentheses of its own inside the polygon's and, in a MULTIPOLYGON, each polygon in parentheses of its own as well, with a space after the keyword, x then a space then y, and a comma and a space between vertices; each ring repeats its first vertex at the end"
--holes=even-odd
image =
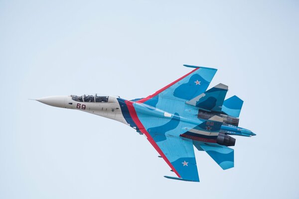
POLYGON ((42 103, 114 119, 145 135, 177 177, 199 182, 193 145, 205 151, 223 169, 234 167, 236 139, 251 137, 252 131, 238 127, 243 100, 225 99, 224 84, 208 88, 217 69, 184 65, 193 71, 147 98, 124 100, 114 96, 53 96, 42 103))

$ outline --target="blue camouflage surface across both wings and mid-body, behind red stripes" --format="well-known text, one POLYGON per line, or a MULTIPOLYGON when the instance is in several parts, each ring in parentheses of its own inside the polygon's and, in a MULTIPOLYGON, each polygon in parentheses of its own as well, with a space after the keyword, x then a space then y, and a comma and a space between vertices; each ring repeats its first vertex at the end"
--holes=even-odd
POLYGON ((185 102, 205 92, 216 71, 199 68, 153 96, 152 100, 134 103, 139 120, 183 180, 198 182, 199 178, 193 142, 179 135, 187 131, 185 128, 194 128, 204 121, 196 117, 198 108, 185 102), (196 81, 200 84, 196 84, 196 81), (164 116, 165 113, 171 114, 171 117, 164 116), (183 166, 184 160, 181 159, 189 161, 190 166, 183 166))

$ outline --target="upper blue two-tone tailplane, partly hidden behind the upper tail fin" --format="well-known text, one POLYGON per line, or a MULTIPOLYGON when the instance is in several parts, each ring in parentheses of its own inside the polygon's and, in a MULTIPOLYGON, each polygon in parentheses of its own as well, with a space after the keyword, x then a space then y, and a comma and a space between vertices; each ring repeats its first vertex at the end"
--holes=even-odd
POLYGON ((222 105, 222 111, 230 116, 239 117, 242 105, 243 100, 241 100, 237 96, 233 96, 227 100, 224 100, 222 105))

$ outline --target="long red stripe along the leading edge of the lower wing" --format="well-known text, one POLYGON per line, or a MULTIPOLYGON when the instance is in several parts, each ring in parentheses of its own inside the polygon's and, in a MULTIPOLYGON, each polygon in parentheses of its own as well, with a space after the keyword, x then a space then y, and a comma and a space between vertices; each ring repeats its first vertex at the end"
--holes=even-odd
POLYGON ((172 169, 172 171, 179 177, 181 178, 181 176, 178 174, 178 172, 175 170, 175 168, 172 166, 172 164, 169 162, 169 160, 166 158, 166 156, 164 155, 164 153, 161 151, 161 149, 159 148, 159 146, 155 143, 155 141, 152 139, 152 137, 150 136, 149 132, 145 129, 145 127, 143 126, 143 124, 141 123, 141 121, 139 120, 136 110, 133 106, 133 101, 125 101, 127 106, 128 106, 128 110, 130 112, 130 115, 132 117, 132 119, 134 120, 134 122, 136 123, 138 129, 144 133, 148 140, 149 143, 153 146, 153 148, 155 148, 155 150, 160 154, 160 156, 165 160, 165 162, 169 165, 169 167, 172 169))

